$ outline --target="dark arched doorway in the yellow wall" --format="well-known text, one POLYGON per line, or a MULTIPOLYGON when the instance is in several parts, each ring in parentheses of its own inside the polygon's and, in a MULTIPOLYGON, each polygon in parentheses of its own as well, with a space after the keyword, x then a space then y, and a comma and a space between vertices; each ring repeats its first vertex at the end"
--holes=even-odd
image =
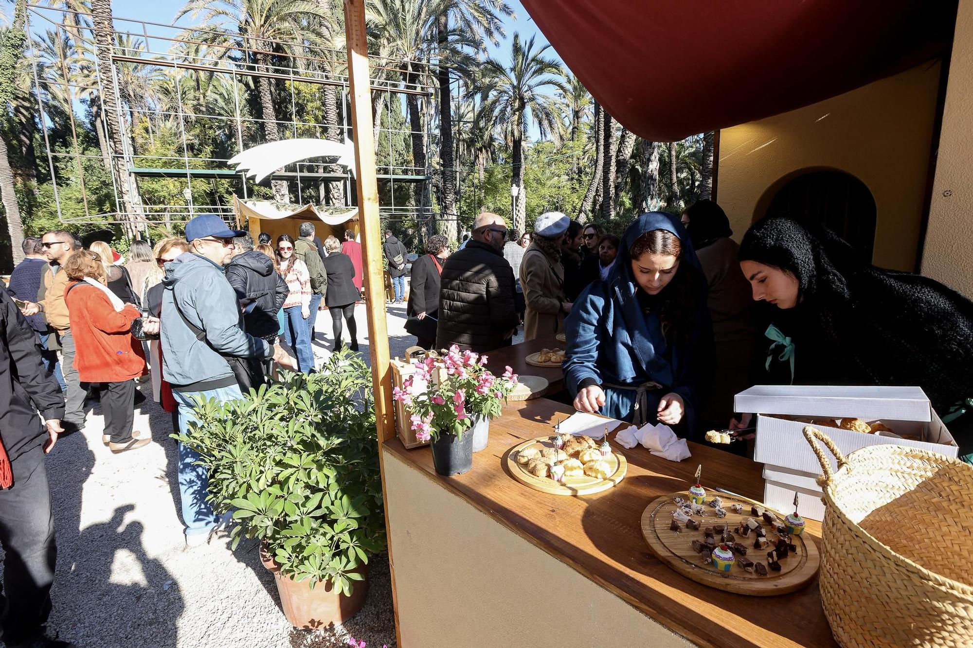
POLYGON ((762 204, 763 213, 755 216, 791 216, 820 223, 838 234, 869 262, 875 247, 876 205, 872 192, 850 173, 834 169, 798 171, 789 179, 775 183, 762 204), (769 204, 768 204, 769 203, 769 204))

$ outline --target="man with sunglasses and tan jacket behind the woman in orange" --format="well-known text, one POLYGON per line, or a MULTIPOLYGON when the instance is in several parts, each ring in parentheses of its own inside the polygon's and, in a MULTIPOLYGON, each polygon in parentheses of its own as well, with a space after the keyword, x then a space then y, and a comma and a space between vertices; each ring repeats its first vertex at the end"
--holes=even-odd
POLYGON ((74 368, 74 337, 71 335, 67 303, 64 301, 64 290, 69 279, 67 272, 61 271, 61 268, 78 244, 74 234, 65 230, 52 230, 41 237, 41 246, 48 260, 48 270, 45 270, 42 279, 44 299, 37 303, 28 302, 21 312, 24 315, 43 312, 48 324, 54 329, 54 343, 48 338, 48 348, 60 348, 61 374, 67 386, 61 425, 65 433, 76 432, 85 427, 85 397, 88 390, 81 386, 78 370, 74 368))

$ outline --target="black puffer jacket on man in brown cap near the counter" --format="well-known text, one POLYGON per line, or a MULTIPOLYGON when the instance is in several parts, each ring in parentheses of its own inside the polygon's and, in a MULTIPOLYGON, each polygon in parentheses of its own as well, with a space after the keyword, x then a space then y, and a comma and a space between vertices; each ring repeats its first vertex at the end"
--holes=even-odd
POLYGON ((471 240, 443 264, 436 347, 459 344, 478 353, 510 343, 520 321, 514 306, 514 270, 503 253, 471 240))

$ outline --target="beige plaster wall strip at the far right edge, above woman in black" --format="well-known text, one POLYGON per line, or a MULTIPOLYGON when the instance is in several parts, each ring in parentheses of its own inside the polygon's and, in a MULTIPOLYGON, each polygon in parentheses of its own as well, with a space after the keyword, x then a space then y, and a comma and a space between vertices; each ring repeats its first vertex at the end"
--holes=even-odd
POLYGON ((973 297, 973 3, 956 14, 922 273, 973 297))

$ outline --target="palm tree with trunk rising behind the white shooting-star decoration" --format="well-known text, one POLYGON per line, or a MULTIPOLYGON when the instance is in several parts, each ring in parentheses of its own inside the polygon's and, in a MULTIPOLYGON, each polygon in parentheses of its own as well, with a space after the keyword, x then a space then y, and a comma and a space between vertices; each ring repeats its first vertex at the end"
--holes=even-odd
MULTIPOLYGON (((277 115, 273 108, 273 86, 267 75, 273 69, 271 57, 276 41, 303 47, 305 40, 319 38, 315 32, 314 21, 307 18, 320 17, 320 7, 311 0, 189 0, 175 20, 190 16, 200 19, 200 28, 223 32, 213 34, 198 32, 193 39, 212 43, 233 43, 245 53, 252 53, 256 70, 261 74, 257 79, 260 92, 261 112, 264 116, 264 135, 269 142, 280 139, 277 129, 277 115)), ((225 49, 224 56, 231 50, 225 49)), ((290 202, 287 183, 274 180, 273 197, 278 202, 290 202)))

